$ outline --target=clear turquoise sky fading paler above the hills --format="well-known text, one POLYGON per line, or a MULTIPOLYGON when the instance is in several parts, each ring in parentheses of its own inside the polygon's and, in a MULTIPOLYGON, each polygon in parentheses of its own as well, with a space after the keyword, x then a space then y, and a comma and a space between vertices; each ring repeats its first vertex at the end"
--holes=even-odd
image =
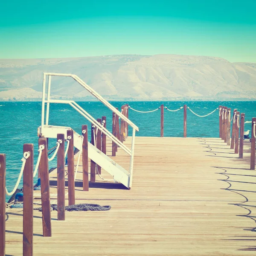
POLYGON ((256 62, 256 0, 1 3, 0 58, 164 53, 256 62))

